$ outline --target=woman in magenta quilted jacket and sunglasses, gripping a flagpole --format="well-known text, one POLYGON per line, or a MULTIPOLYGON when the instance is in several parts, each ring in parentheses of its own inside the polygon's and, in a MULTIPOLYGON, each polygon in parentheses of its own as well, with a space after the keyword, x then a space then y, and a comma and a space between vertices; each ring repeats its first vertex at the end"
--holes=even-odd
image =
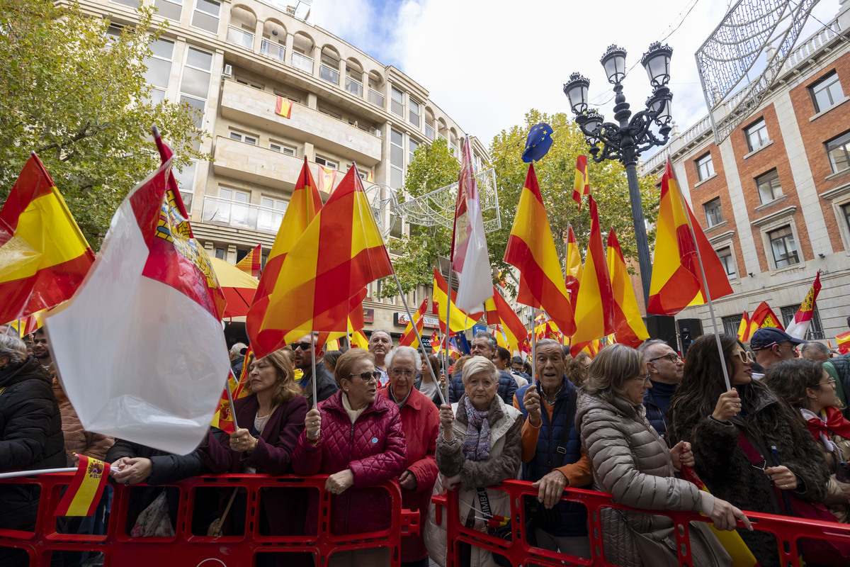
MULTIPOLYGON (((407 451, 399 408, 377 396, 375 358, 365 349, 339 357, 334 371, 339 390, 304 420, 292 456, 296 474, 330 474, 331 533, 386 530, 392 523, 387 490, 371 488, 405 468, 407 451)), ((318 529, 318 503, 310 502, 307 530, 318 529)), ((331 556, 329 567, 386 565, 389 549, 376 547, 331 556)))

